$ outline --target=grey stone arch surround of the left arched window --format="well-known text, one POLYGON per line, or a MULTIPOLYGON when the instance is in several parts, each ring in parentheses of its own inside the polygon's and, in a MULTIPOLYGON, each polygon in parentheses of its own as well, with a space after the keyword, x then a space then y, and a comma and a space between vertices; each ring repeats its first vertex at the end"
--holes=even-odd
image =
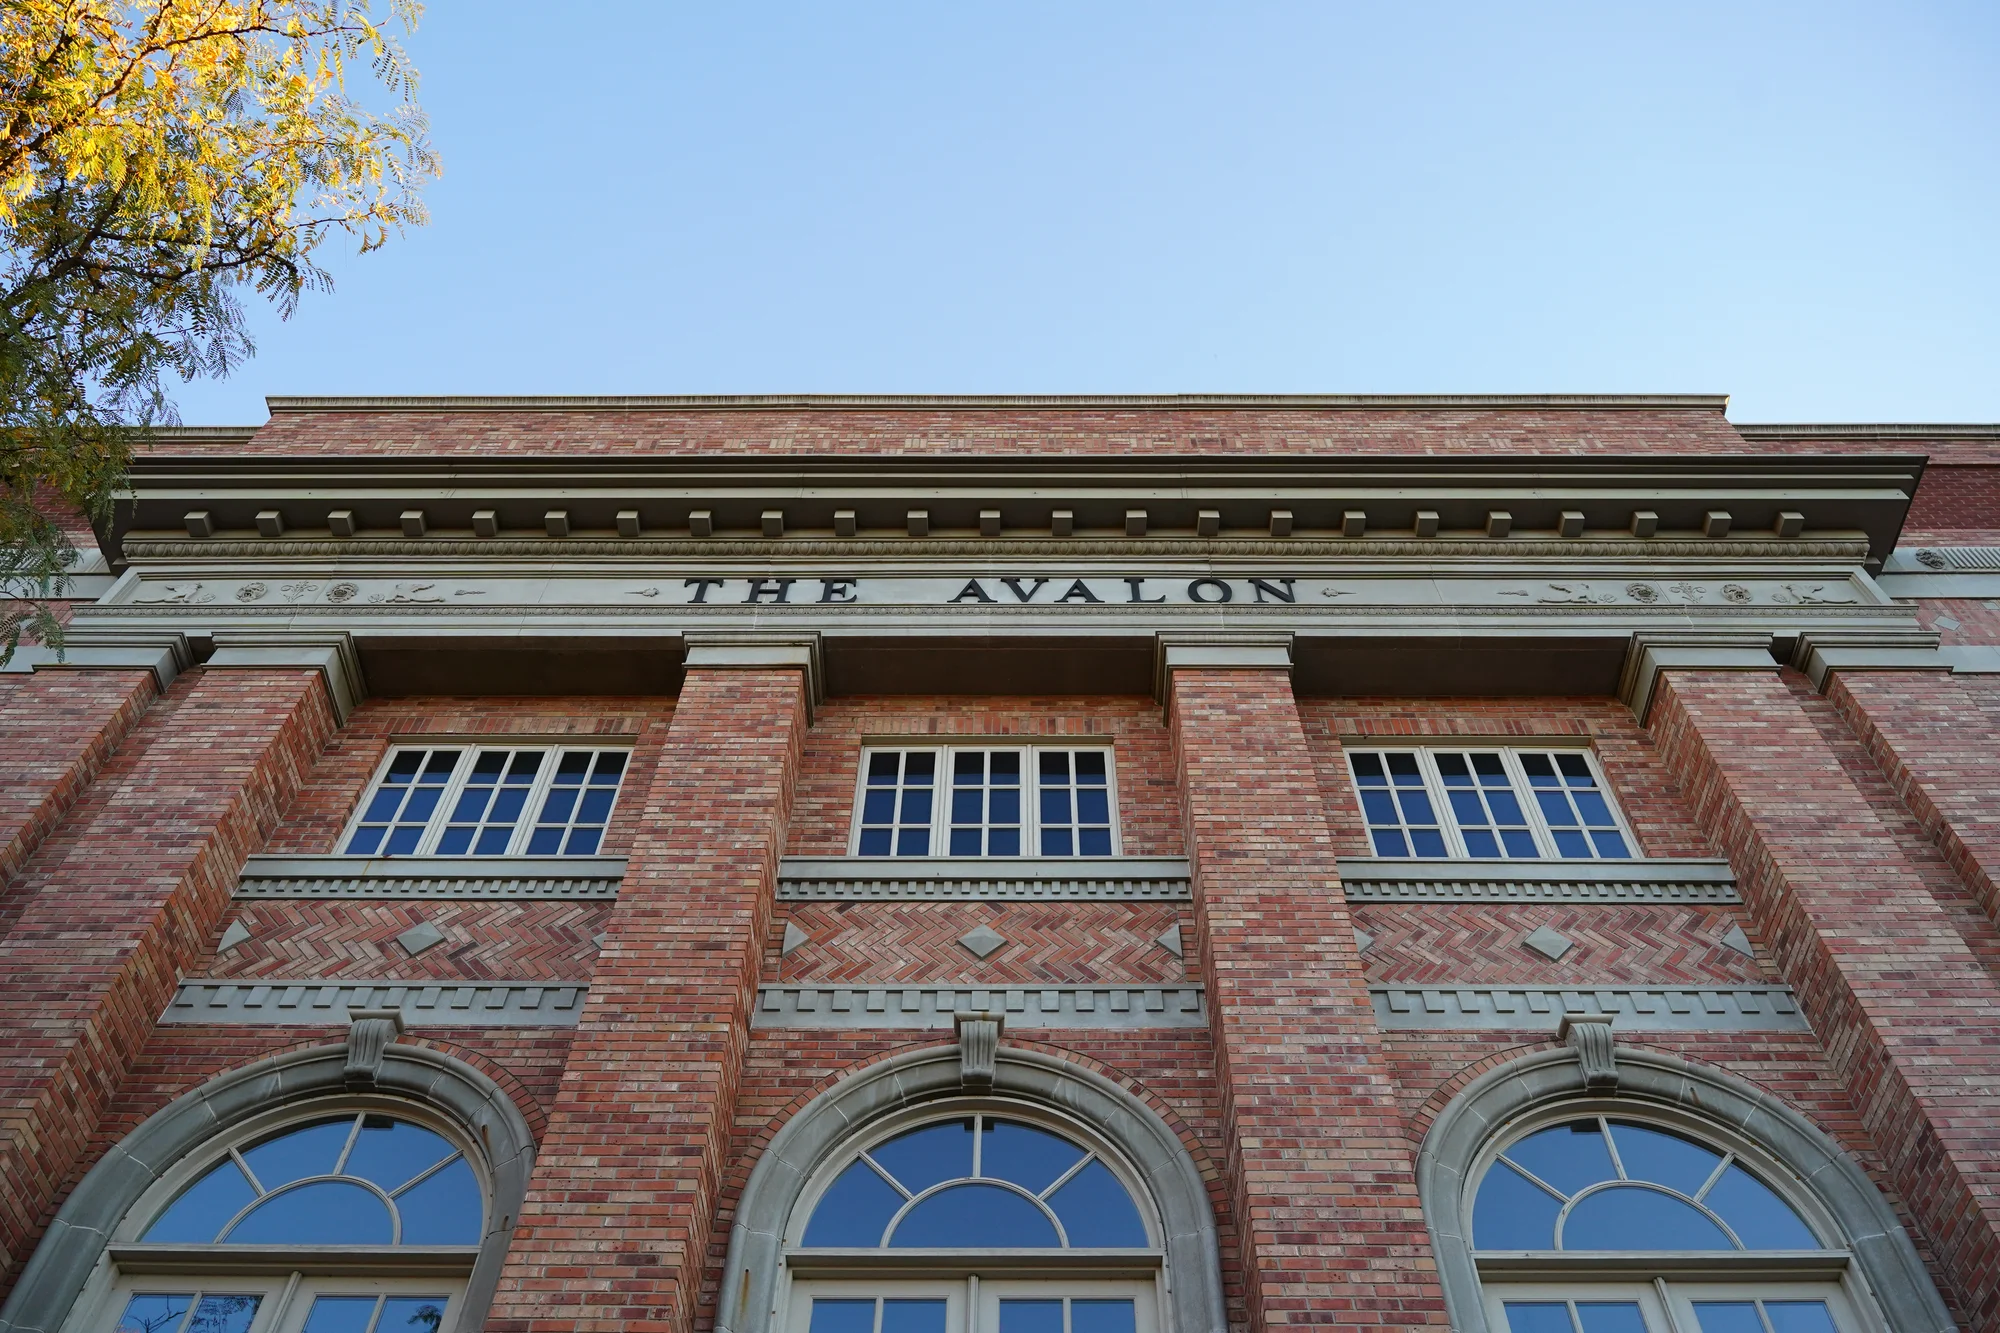
MULTIPOLYGON (((84 1175, 56 1213, 0 1307, 0 1331, 56 1333, 104 1259, 114 1229, 154 1183, 210 1139, 252 1117, 352 1091, 348 1047, 322 1045, 280 1051, 216 1075, 152 1113, 84 1175)), ((444 1117, 480 1151, 492 1195, 480 1257, 466 1283, 466 1311, 476 1327, 500 1281, 506 1241, 528 1195, 534 1169, 528 1121, 490 1077, 430 1047, 392 1043, 368 1091, 444 1117)))

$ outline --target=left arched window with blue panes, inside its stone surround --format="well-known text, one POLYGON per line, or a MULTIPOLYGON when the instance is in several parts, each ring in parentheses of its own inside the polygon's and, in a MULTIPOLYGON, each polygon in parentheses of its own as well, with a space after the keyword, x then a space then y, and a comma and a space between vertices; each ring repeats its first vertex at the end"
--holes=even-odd
POLYGON ((478 1155, 382 1099, 258 1117, 146 1191, 74 1333, 450 1333, 488 1231, 478 1155))

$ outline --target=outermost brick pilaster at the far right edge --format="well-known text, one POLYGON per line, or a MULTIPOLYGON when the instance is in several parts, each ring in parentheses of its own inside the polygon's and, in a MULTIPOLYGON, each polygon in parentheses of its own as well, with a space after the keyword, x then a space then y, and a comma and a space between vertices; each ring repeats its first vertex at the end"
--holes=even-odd
POLYGON ((1986 915, 2000 921, 2000 733, 1948 671, 1834 671, 1840 709, 1986 915))

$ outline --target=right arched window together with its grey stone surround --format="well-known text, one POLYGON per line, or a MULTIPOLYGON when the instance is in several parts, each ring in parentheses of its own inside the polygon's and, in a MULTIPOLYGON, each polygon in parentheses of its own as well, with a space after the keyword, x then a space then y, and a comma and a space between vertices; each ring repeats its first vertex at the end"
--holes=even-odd
POLYGON ((1576 1051, 1524 1055, 1424 1137, 1460 1333, 1952 1327, 1896 1215, 1798 1111, 1664 1051, 1618 1045, 1592 1073, 1576 1051))

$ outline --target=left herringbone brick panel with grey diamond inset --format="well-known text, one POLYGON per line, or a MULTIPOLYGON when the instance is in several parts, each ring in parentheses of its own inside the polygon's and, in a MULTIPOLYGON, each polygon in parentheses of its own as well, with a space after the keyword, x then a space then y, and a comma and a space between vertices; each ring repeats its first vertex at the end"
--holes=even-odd
POLYGON ((610 903, 240 903, 250 939, 192 977, 360 981, 588 981, 610 903), (428 921, 444 941, 410 955, 396 937, 428 921))

